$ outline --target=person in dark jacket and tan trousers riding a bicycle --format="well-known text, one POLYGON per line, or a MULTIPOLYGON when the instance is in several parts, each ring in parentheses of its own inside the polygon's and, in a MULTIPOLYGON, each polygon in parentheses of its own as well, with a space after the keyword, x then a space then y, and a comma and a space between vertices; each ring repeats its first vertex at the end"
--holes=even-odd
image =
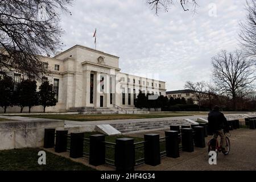
POLYGON ((214 106, 213 110, 211 110, 208 114, 208 126, 209 131, 214 133, 213 138, 217 139, 218 135, 221 137, 221 150, 222 152, 226 152, 226 140, 224 129, 228 126, 228 122, 223 113, 220 112, 220 108, 218 106, 214 106))

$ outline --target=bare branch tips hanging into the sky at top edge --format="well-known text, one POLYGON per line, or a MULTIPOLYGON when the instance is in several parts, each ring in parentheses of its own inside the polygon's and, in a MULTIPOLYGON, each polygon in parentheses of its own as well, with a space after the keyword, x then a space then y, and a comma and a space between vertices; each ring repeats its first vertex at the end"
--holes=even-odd
MULTIPOLYGON (((181 7, 184 11, 189 11, 188 7, 192 7, 193 11, 195 11, 197 5, 197 0, 177 0, 180 3, 181 7)), ((174 1, 172 0, 147 0, 147 3, 150 5, 152 10, 155 10, 155 14, 158 14, 160 9, 164 11, 168 11, 168 7, 174 5, 174 1)))

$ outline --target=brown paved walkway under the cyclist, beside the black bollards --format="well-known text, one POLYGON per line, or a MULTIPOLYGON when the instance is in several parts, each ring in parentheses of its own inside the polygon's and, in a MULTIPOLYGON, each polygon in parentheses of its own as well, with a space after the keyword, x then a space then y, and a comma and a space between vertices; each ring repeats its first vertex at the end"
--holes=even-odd
MULTIPOLYGON (((151 132, 152 133, 152 132, 151 132)), ((155 133, 155 132, 154 132, 155 133)), ((164 131, 158 131, 164 135, 164 131)), ((174 170, 256 170, 256 130, 237 129, 230 131, 231 149, 229 155, 218 154, 217 165, 208 163, 208 148, 195 147, 194 152, 180 151, 180 158, 162 158, 158 166, 148 166, 146 164, 138 166, 135 170, 148 171, 174 171, 174 170)), ((141 134, 131 134, 131 136, 142 137, 141 134)), ((205 138, 207 143, 211 137, 205 138)))

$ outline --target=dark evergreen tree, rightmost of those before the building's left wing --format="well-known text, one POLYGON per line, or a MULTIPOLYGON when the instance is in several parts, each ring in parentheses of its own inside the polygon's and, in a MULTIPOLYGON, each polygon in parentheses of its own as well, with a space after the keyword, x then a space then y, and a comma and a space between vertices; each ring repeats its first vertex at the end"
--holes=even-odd
POLYGON ((39 104, 44 107, 44 113, 46 112, 46 107, 55 106, 57 103, 53 86, 49 85, 48 81, 43 82, 42 85, 39 86, 38 96, 39 104))

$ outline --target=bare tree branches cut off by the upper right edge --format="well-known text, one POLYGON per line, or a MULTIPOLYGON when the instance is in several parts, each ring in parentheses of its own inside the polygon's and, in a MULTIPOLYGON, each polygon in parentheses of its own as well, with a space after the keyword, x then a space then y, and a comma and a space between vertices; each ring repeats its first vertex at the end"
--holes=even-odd
POLYGON ((240 43, 246 53, 256 56, 256 2, 246 0, 247 19, 240 23, 240 43))

